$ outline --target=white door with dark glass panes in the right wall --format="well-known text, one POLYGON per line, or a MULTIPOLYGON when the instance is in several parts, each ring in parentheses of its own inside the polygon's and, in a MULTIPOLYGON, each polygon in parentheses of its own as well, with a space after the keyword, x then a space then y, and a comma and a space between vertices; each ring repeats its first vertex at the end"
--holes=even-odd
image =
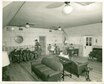
POLYGON ((92 36, 84 36, 83 43, 83 56, 88 57, 89 53, 92 51, 93 46, 93 37, 92 36))

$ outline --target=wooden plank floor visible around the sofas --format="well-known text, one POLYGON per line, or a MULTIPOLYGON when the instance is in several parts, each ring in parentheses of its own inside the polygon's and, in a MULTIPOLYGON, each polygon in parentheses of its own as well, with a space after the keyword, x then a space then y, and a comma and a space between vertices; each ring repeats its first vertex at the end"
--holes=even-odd
MULTIPOLYGON (((39 59, 41 60, 41 59, 39 59)), ((33 60, 33 61, 39 61, 33 60)), ((8 67, 8 72, 11 78, 11 81, 41 81, 37 76, 31 72, 30 61, 19 63, 11 63, 8 67)), ((102 81, 102 63, 97 61, 89 61, 89 67, 93 68, 90 71, 90 79, 92 81, 101 82, 102 81)), ((66 72, 68 73, 68 72, 66 72)), ((86 82, 85 76, 82 75, 79 78, 75 75, 72 75, 72 78, 65 76, 67 82, 86 82)))

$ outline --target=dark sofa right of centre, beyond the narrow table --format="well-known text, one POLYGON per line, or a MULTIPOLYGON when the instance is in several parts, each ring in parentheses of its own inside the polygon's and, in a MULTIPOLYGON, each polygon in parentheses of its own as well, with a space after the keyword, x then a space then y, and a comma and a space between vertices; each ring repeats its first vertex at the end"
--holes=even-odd
POLYGON ((86 80, 90 81, 90 78, 89 78, 89 69, 90 68, 87 66, 89 63, 86 58, 73 57, 71 60, 69 58, 62 57, 62 56, 59 56, 59 58, 71 62, 70 64, 64 65, 64 70, 70 72, 71 74, 76 75, 77 77, 79 77, 83 72, 85 72, 86 80))

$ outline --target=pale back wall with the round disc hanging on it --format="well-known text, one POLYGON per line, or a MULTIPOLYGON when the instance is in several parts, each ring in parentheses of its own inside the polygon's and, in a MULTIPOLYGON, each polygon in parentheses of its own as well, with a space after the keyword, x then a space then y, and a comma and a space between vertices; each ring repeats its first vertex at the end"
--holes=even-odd
POLYGON ((63 33, 61 31, 49 32, 49 29, 42 28, 23 28, 21 31, 18 27, 14 29, 15 30, 11 30, 11 27, 8 27, 8 29, 5 27, 3 30, 3 41, 6 43, 7 47, 33 47, 35 45, 35 39, 39 39, 39 36, 46 37, 46 47, 48 44, 53 45, 54 43, 58 44, 60 47, 62 45, 63 33), (23 43, 18 44, 15 42, 15 37, 18 35, 23 36, 23 43))

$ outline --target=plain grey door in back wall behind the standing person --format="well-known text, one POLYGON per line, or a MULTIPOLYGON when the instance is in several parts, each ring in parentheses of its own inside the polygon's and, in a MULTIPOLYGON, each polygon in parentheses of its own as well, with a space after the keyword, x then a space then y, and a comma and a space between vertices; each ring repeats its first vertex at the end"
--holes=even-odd
POLYGON ((41 55, 46 55, 46 37, 45 36, 39 36, 39 43, 41 45, 41 55))

